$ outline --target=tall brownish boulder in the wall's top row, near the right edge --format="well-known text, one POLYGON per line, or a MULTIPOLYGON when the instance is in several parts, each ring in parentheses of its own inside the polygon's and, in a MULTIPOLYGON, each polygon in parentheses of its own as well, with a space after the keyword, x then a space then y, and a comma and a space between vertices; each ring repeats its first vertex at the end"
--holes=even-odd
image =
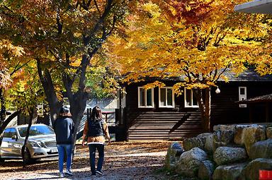
POLYGON ((266 128, 265 126, 249 126, 244 128, 242 139, 244 140, 244 145, 246 146, 246 152, 250 152, 251 145, 259 140, 266 139, 266 128))

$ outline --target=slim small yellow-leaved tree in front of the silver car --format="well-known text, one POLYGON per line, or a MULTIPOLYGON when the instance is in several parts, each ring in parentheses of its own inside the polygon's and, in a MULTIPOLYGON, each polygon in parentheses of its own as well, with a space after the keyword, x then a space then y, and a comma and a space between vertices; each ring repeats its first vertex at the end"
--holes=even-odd
POLYGON ((6 93, 6 102, 9 104, 9 109, 20 109, 21 114, 26 116, 28 128, 26 138, 21 150, 23 157, 23 167, 30 162, 30 157, 26 155, 29 153, 26 148, 28 142, 30 126, 37 119, 37 105, 42 104, 45 100, 45 95, 40 85, 40 79, 35 61, 28 61, 28 64, 21 67, 21 71, 13 76, 13 85, 6 93), (27 159, 26 159, 27 158, 27 159))

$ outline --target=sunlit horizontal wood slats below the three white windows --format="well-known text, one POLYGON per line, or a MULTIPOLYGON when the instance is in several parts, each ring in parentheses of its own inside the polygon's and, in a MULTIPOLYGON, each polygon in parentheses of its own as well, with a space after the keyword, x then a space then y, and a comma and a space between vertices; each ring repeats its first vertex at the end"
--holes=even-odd
POLYGON ((145 112, 142 114, 128 114, 130 125, 128 128, 129 140, 173 140, 183 137, 196 136, 201 131, 200 114, 189 112, 191 116, 183 121, 182 125, 170 133, 184 112, 145 112))

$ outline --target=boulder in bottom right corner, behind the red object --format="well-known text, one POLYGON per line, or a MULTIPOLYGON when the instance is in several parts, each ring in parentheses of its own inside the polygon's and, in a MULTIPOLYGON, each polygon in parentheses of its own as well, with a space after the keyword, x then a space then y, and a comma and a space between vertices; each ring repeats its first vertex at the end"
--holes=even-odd
POLYGON ((258 158, 247 164, 242 170, 239 179, 241 180, 256 180, 259 179, 260 169, 272 169, 272 159, 258 158))

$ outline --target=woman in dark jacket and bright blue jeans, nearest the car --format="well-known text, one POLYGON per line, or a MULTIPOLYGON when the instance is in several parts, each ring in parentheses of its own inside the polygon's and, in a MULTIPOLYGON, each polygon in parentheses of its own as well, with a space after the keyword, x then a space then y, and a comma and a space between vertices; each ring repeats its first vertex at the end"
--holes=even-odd
POLYGON ((60 109, 60 117, 56 119, 53 128, 56 133, 57 150, 59 152, 59 170, 60 177, 64 177, 63 174, 63 162, 64 151, 67 155, 66 174, 72 176, 71 164, 72 164, 72 134, 74 133, 74 122, 71 119, 71 113, 68 107, 62 107, 60 109))

